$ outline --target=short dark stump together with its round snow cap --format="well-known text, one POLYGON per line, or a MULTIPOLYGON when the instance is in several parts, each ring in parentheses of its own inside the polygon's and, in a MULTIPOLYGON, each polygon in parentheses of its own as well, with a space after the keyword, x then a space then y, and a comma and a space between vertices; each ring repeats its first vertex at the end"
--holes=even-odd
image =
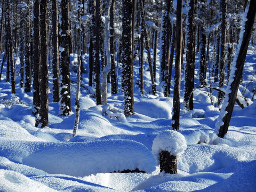
POLYGON ((160 172, 177 174, 177 157, 187 148, 185 137, 174 130, 165 130, 153 141, 152 153, 160 165, 160 172))

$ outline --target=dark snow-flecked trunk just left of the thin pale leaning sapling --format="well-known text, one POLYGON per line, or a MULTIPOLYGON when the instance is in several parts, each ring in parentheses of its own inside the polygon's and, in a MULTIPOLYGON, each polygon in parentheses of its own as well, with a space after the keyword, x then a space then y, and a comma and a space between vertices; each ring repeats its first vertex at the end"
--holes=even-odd
POLYGON ((69 0, 61 1, 61 34, 60 34, 60 115, 71 114, 70 103, 70 30, 69 30, 69 0))

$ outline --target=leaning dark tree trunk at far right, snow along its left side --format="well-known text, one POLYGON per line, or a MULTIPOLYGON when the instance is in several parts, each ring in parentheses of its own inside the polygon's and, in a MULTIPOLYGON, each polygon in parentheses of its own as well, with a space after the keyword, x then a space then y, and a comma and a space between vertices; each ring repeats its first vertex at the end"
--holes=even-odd
POLYGON ((238 44, 239 49, 237 50, 234 61, 232 62, 233 67, 231 67, 225 100, 223 101, 223 106, 221 109, 221 115, 215 124, 216 128, 219 129, 218 136, 220 138, 223 138, 228 132, 229 122, 233 113, 238 87, 243 75, 244 62, 250 43, 255 14, 256 1, 251 1, 246 18, 243 21, 243 26, 240 33, 241 39, 239 40, 238 44))

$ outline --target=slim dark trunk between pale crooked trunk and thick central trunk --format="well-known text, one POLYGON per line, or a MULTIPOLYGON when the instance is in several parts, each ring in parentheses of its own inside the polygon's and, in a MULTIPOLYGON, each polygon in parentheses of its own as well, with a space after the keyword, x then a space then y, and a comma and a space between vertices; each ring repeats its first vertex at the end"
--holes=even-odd
POLYGON ((116 66, 115 66, 115 3, 116 0, 111 1, 110 5, 110 37, 109 37, 109 46, 110 46, 110 54, 111 54, 111 70, 110 70, 110 78, 111 78, 111 94, 117 93, 117 79, 116 79, 116 66))

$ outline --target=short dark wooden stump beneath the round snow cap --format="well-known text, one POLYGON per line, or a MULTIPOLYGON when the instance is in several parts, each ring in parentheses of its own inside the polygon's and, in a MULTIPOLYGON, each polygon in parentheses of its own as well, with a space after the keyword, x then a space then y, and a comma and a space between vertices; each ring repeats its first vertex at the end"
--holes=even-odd
POLYGON ((159 154, 160 172, 177 174, 177 157, 169 151, 161 151, 159 154))

